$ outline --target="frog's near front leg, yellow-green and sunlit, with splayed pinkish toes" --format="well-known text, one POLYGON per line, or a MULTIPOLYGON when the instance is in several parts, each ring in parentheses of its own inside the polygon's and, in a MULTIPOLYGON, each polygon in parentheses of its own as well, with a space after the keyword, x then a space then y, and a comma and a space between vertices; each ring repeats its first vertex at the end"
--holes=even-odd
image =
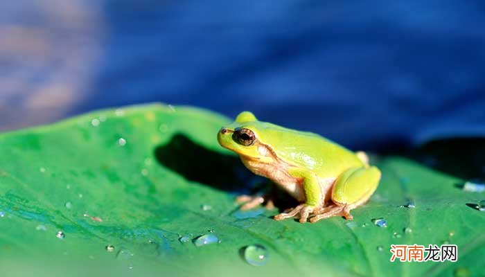
POLYGON ((286 218, 295 217, 299 218, 300 222, 306 222, 308 220, 308 215, 321 208, 324 204, 318 177, 308 170, 290 169, 288 171, 292 177, 301 179, 301 186, 303 187, 303 193, 305 195, 305 203, 296 206, 288 213, 280 213, 279 215, 276 215, 274 219, 284 220, 286 218))

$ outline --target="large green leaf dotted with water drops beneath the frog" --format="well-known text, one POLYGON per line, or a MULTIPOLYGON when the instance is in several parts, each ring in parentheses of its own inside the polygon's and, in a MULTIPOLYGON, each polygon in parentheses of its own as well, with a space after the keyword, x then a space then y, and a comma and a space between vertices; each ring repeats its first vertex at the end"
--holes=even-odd
POLYGON ((485 194, 404 157, 374 159, 382 182, 353 221, 238 211, 234 197, 259 180, 219 147, 215 134, 228 120, 146 105, 0 135, 0 268, 6 276, 482 272, 485 212, 467 204, 485 194), (403 207, 409 201, 415 208, 403 207), (386 227, 371 222, 380 217, 386 227), (197 246, 203 235, 211 243, 197 246), (389 262, 391 244, 445 242, 458 245, 458 262, 389 262), (265 249, 261 266, 241 256, 253 245, 265 249))

